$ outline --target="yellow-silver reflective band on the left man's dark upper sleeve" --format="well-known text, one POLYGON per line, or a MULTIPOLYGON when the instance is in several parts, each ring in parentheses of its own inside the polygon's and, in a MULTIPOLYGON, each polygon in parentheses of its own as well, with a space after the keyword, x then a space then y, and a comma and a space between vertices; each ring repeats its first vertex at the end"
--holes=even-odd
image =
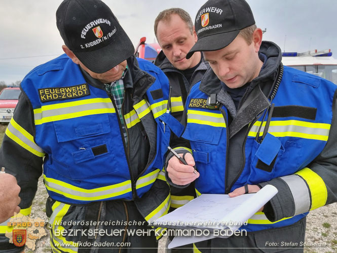
POLYGON ((16 123, 14 118, 11 119, 5 133, 22 148, 34 154, 35 156, 45 156, 43 150, 35 143, 34 137, 25 129, 23 129, 18 123, 16 123))

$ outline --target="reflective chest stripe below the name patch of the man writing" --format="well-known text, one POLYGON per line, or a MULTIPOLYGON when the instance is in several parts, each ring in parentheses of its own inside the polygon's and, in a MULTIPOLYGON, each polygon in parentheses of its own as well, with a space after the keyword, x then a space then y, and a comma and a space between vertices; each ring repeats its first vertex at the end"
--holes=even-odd
POLYGON ((222 114, 197 110, 188 110, 187 114, 187 123, 209 125, 213 127, 226 127, 222 114))

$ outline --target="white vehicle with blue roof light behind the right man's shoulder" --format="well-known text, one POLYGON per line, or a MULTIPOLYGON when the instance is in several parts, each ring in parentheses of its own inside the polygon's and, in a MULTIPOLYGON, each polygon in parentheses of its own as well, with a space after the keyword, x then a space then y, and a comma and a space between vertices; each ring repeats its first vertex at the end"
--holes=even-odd
POLYGON ((337 85, 337 59, 332 57, 330 49, 312 50, 304 53, 282 53, 284 65, 325 78, 337 85))

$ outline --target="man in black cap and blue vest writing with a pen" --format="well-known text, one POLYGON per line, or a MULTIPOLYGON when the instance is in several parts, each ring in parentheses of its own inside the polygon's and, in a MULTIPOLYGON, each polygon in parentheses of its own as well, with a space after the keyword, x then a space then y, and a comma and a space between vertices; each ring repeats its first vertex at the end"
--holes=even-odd
POLYGON ((306 215, 337 200, 337 86, 283 67, 244 0, 209 0, 195 28, 187 58, 202 51, 211 69, 185 104, 182 137, 191 150, 176 152, 188 165, 168 157, 168 182, 195 182, 197 195, 236 197, 268 184, 278 193, 240 228, 247 236, 196 242, 194 250, 303 252, 306 215))

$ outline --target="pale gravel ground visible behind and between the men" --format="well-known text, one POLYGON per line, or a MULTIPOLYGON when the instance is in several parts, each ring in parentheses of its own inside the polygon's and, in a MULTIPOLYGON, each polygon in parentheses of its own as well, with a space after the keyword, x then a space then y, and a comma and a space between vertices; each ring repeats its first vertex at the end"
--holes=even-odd
MULTIPOLYGON (((42 177, 39 180, 39 188, 33 201, 31 218, 42 218, 47 221, 45 203, 47 192, 43 185, 42 177)), ((48 232, 47 232, 48 234, 48 232)), ((166 238, 159 241, 158 253, 165 252, 166 238)), ((306 253, 332 253, 337 252, 337 203, 330 204, 313 210, 307 218, 306 229, 306 253), (316 245, 315 245, 316 244, 316 245), (318 245, 318 246, 317 246, 318 245)), ((26 253, 33 251, 26 250, 26 253)), ((36 241, 34 252, 50 252, 49 236, 44 236, 36 241)))

